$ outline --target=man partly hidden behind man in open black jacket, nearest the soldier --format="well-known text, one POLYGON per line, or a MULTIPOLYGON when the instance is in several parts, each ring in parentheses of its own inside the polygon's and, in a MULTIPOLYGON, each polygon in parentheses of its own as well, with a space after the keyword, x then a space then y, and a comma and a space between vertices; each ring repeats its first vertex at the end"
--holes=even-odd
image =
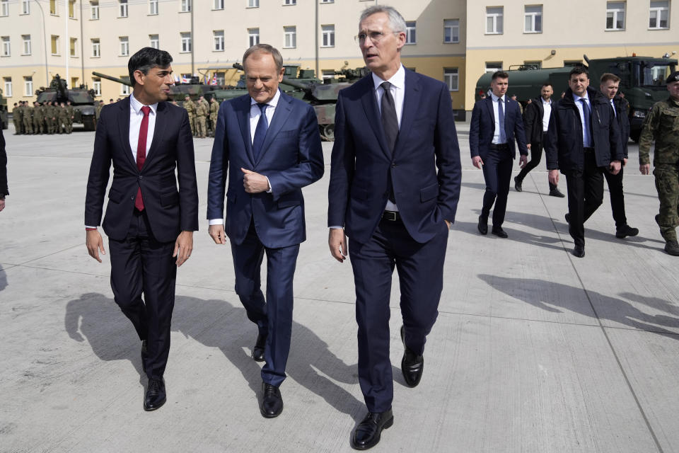
POLYGON ((620 142, 622 144, 622 167, 620 173, 614 175, 613 173, 604 172, 608 183, 608 192, 610 193, 610 209, 613 210, 613 219, 615 220, 615 237, 625 238, 627 236, 637 236, 639 229, 632 228, 627 224, 627 217, 625 217, 625 195, 622 193, 622 171, 627 164, 627 142, 629 141, 629 103, 625 98, 615 96, 617 88, 620 86, 620 77, 615 74, 606 72, 601 76, 599 89, 603 96, 608 98, 610 105, 613 106, 613 113, 618 127, 620 127, 620 142))

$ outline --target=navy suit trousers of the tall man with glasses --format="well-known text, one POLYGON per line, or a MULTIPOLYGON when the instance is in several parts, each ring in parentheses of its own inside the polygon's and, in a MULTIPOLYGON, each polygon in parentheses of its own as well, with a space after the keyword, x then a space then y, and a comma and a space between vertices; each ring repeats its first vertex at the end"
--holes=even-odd
POLYGON ((412 239, 399 220, 385 219, 368 242, 349 238, 359 326, 359 384, 370 412, 387 411, 393 400, 389 302, 394 268, 400 285, 405 344, 421 355, 439 315, 447 244, 448 229, 443 221, 439 234, 426 243, 412 239))

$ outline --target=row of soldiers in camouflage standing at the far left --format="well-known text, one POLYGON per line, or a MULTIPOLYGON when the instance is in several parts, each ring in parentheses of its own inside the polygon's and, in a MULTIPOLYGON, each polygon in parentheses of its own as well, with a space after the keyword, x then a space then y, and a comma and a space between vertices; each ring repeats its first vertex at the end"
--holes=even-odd
POLYGON ((12 119, 15 134, 70 134, 73 132, 75 109, 68 103, 46 101, 44 104, 28 101, 14 103, 12 119))

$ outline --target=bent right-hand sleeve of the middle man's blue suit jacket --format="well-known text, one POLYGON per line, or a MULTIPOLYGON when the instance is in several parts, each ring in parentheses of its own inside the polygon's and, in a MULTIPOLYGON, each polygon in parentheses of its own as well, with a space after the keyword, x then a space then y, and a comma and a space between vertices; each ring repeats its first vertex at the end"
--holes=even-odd
POLYGON ((323 177, 323 148, 320 144, 318 120, 311 105, 305 104, 304 108, 306 111, 301 119, 298 135, 297 165, 283 171, 265 173, 271 184, 274 201, 285 193, 303 188, 323 177))

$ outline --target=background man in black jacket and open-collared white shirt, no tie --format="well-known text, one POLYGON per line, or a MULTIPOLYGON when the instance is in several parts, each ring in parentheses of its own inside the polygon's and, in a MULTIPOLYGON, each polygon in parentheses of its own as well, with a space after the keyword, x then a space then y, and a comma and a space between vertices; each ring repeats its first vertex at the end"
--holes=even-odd
MULTIPOLYGON (((550 125, 550 116, 552 116, 552 94, 554 88, 550 82, 545 82, 540 88, 540 97, 533 99, 526 105, 525 113, 523 114, 523 130, 526 131, 526 142, 528 151, 530 151, 530 162, 521 169, 518 176, 514 178, 514 188, 517 192, 521 192, 523 178, 526 178, 528 172, 533 170, 540 164, 542 157, 542 147, 545 145, 545 137, 547 136, 547 127, 550 125)), ((565 195, 557 185, 550 183, 550 195, 552 197, 561 197, 565 195)))

